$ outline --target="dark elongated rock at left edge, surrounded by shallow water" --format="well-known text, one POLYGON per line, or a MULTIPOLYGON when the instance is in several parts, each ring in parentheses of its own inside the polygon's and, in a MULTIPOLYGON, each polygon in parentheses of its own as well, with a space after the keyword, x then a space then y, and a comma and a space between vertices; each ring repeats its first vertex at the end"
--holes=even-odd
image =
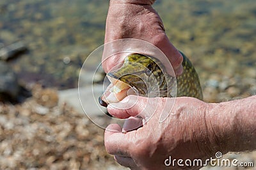
POLYGON ((15 42, 0 49, 0 59, 9 60, 26 51, 28 51, 28 48, 23 42, 15 42))

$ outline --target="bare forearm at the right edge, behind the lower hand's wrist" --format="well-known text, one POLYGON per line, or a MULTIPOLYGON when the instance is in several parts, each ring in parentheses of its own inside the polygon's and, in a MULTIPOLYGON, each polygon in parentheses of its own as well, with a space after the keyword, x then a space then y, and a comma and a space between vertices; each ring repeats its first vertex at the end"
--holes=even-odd
POLYGON ((256 95, 211 104, 206 114, 216 149, 223 152, 256 150, 256 95))

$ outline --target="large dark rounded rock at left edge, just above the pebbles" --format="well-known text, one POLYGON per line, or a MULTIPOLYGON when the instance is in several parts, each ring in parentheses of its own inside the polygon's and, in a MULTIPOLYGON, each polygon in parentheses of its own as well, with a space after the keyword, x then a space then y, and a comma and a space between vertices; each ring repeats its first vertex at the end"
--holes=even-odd
POLYGON ((12 68, 0 61, 0 101, 15 100, 18 97, 20 86, 12 68))

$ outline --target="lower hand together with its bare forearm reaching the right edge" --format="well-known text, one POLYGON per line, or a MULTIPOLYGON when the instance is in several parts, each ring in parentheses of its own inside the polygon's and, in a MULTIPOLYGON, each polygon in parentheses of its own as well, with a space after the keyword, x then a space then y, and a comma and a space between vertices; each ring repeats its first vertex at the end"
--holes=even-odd
MULTIPOLYGON (((122 166, 131 169, 179 169, 184 167, 177 164, 176 167, 166 167, 164 160, 169 156, 172 160, 205 160, 214 158, 217 151, 224 154, 256 149, 256 95, 219 104, 208 104, 191 97, 129 96, 124 100, 109 105, 108 112, 116 118, 140 114, 145 119, 152 111, 154 115, 142 127, 126 133, 117 124, 107 127, 106 150, 115 155, 116 162, 122 166), (165 105, 173 102, 171 109, 165 105), (133 106, 121 109, 127 105, 133 106), (170 110, 172 114, 159 123, 161 114, 170 110)), ((125 126, 130 128, 136 125, 134 121, 127 124, 125 126)))

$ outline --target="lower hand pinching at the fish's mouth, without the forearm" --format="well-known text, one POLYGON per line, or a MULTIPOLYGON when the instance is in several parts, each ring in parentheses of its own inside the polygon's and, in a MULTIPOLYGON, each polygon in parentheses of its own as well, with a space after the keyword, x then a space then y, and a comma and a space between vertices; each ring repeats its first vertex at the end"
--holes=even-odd
MULTIPOLYGON (((170 169, 164 165, 164 160, 170 156, 172 160, 205 160, 216 151, 222 151, 221 145, 216 143, 214 130, 208 126, 205 112, 209 105, 205 102, 190 97, 175 99, 128 96, 124 100, 125 102, 110 104, 108 112, 117 118, 129 118, 138 114, 143 121, 150 116, 152 118, 143 127, 127 133, 122 133, 122 128, 116 124, 107 128, 106 149, 115 155, 116 162, 122 166, 131 169, 170 169), (168 114, 171 110, 168 118, 159 123, 161 114, 168 114)), ((133 118, 130 123, 125 123, 124 128, 131 129, 134 125, 140 125, 140 120, 137 123, 134 121, 136 119, 133 118)), ((175 169, 179 168, 177 164, 175 166, 175 169)))

